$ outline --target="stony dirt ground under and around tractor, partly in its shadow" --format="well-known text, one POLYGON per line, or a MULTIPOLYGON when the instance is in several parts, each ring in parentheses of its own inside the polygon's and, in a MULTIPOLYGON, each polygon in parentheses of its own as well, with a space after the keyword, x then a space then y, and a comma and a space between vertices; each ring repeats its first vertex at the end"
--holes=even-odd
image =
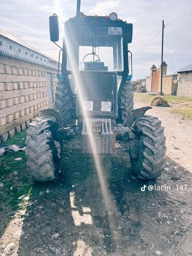
POLYGON ((80 137, 67 140, 58 181, 32 184, 25 208, 0 213, 0 255, 192 255, 191 123, 166 108, 152 113, 166 127, 160 178, 135 179, 126 142, 100 157, 98 171, 92 156, 80 154, 80 137))

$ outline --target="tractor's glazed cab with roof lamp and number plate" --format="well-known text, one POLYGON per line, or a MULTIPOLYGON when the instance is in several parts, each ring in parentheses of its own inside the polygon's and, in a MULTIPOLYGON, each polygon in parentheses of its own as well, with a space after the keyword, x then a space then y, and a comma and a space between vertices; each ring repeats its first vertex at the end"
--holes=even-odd
POLYGON ((79 17, 65 22, 64 34, 62 73, 66 79, 73 69, 71 62, 76 59, 79 71, 116 72, 119 88, 121 80, 125 81, 129 74, 128 43, 132 41, 132 24, 117 19, 115 12, 105 17, 80 12, 79 17))

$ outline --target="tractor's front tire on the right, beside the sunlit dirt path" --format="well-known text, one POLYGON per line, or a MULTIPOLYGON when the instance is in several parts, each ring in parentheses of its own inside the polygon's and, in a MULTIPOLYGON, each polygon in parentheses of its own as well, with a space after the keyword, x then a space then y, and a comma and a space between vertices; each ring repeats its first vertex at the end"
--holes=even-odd
POLYGON ((144 115, 134 120, 132 131, 135 138, 129 141, 129 152, 136 177, 150 180, 160 176, 166 159, 163 130, 157 117, 144 115))

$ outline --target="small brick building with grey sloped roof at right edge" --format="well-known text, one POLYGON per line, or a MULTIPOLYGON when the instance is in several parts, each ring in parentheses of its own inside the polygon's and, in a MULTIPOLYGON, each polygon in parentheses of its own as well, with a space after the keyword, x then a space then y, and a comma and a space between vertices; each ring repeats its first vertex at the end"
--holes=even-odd
POLYGON ((177 73, 177 95, 192 98, 192 63, 177 73))

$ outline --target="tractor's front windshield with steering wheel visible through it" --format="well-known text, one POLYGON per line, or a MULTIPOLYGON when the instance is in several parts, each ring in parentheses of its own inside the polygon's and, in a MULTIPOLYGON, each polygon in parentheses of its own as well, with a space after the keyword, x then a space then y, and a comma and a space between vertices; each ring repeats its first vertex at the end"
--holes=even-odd
MULTIPOLYGON (((121 27, 95 24, 80 26, 79 70, 123 71, 122 47, 121 27)), ((69 60, 67 70, 71 70, 69 60)))

